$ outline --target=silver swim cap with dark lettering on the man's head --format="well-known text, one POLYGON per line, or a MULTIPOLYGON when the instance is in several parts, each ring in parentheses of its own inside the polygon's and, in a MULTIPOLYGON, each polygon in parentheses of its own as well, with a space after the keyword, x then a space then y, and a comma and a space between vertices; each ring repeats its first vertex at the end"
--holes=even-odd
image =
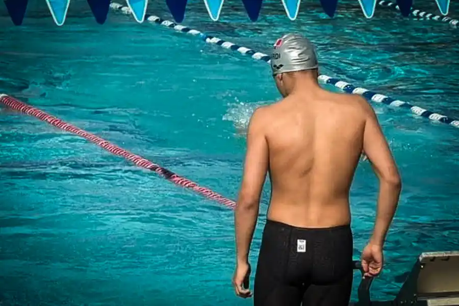
POLYGON ((277 39, 271 54, 272 74, 316 69, 316 50, 313 43, 299 34, 287 34, 277 39))

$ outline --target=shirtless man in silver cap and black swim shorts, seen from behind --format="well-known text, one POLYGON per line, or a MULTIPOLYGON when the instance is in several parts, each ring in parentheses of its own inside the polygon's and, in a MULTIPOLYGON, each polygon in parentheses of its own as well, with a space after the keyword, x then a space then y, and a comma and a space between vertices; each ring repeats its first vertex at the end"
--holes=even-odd
POLYGON ((249 249, 269 172, 271 199, 253 288, 255 306, 347 306, 353 238, 349 189, 362 152, 379 179, 372 236, 362 252, 366 277, 382 269, 382 249, 398 204, 400 176, 367 101, 333 93, 317 81, 313 44, 298 34, 278 39, 272 74, 284 99, 258 108, 235 211, 236 294, 247 298, 249 249))

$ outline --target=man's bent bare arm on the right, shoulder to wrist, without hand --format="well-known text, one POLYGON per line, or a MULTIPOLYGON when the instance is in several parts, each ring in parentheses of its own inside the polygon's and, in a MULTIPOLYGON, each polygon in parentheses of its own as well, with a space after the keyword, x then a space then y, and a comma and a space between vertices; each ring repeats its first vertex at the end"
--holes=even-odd
POLYGON ((366 115, 363 149, 379 179, 376 221, 370 244, 382 247, 397 209, 401 181, 376 114, 367 101, 362 100, 366 115))

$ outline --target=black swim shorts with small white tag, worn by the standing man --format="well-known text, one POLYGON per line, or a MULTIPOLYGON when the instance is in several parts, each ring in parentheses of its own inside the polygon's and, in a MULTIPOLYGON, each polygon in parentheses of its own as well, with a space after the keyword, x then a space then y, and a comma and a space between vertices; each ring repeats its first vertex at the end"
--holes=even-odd
POLYGON ((267 220, 254 306, 347 306, 352 251, 350 225, 300 228, 267 220))

